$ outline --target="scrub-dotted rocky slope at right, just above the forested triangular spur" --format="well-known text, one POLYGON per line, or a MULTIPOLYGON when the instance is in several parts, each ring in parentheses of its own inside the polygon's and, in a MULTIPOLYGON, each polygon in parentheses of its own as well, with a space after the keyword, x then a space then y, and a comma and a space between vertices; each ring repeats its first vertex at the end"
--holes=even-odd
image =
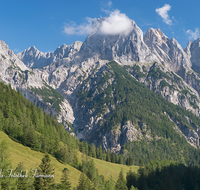
MULTIPOLYGON (((169 102, 200 116, 199 93, 191 85, 188 85, 187 81, 159 63, 154 63, 145 69, 148 73, 143 72, 143 77, 137 77, 138 73, 130 68, 128 70, 139 82, 169 102)), ((142 68, 140 70, 142 71, 142 68)))

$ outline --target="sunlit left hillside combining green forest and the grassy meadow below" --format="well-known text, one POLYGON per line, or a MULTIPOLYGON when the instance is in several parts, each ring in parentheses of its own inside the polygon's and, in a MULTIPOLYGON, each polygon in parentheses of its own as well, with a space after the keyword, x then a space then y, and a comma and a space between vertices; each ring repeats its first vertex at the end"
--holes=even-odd
MULTIPOLYGON (((69 177, 72 186, 78 184, 79 175, 81 174, 79 171, 85 173, 91 180, 91 184, 95 185, 94 179, 105 178, 110 183, 110 177, 113 177, 111 177, 111 180, 116 180, 121 168, 125 172, 128 172, 130 168, 129 166, 117 164, 118 160, 116 160, 116 163, 111 163, 111 160, 108 163, 103 161, 111 155, 100 148, 97 151, 94 146, 90 146, 86 142, 81 143, 77 138, 71 136, 68 131, 65 131, 64 126, 59 124, 56 118, 50 117, 41 108, 29 102, 20 91, 15 91, 10 85, 7 86, 3 83, 0 83, 0 130, 0 152, 3 151, 1 156, 8 150, 10 155, 3 157, 3 160, 0 160, 0 165, 3 167, 9 160, 13 162, 13 166, 10 164, 5 165, 2 170, 4 174, 6 169, 9 169, 8 167, 13 167, 14 171, 15 167, 19 165, 23 167, 23 171, 38 168, 39 159, 42 158, 42 155, 44 156, 44 152, 55 157, 51 157, 51 159, 55 167, 56 183, 60 182, 61 171, 64 167, 67 167, 70 172, 69 177), (9 139, 4 132, 15 142, 9 139), (2 143, 5 144, 4 141, 8 145, 6 149, 2 147, 2 143), (83 153, 80 153, 79 150, 83 153), (102 158, 99 157, 99 151, 102 158), (97 170, 99 170, 99 173, 97 170), (107 176, 103 176, 105 174, 107 176)), ((123 158, 121 164, 123 164, 123 158)), ((131 166, 131 168, 137 171, 137 167, 131 166)), ((2 180, 4 181, 4 178, 2 180)), ((15 183, 15 180, 10 180, 9 186, 11 186, 10 183, 15 183)), ((104 180, 101 183, 102 186, 105 185, 104 180)))

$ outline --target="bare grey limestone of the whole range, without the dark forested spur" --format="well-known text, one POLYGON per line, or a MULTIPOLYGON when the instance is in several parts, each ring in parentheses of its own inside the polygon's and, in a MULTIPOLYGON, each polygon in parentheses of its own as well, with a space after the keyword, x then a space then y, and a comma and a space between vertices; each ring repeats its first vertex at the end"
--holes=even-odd
MULTIPOLYGON (((101 24, 105 19, 98 19, 94 25, 101 24)), ((151 140, 154 137, 145 123, 133 124, 131 121, 102 132, 101 126, 105 118, 120 102, 103 105, 104 112, 99 114, 97 108, 88 108, 79 100, 80 89, 86 94, 92 92, 87 101, 96 98, 100 94, 97 85, 104 80, 106 73, 110 78, 102 90, 116 83, 112 71, 106 65, 110 60, 124 65, 132 77, 150 90, 199 117, 200 39, 189 42, 183 51, 175 39, 169 39, 159 29, 149 29, 143 36, 136 23, 131 23, 132 30, 127 34, 105 35, 97 29, 83 44, 64 44, 53 53, 42 53, 32 46, 16 56, 0 41, 0 80, 20 89, 25 97, 50 114, 58 112, 49 102, 44 102, 40 94, 35 94, 34 88, 51 87, 58 91, 64 97, 58 114, 59 121, 64 117, 66 121, 73 123, 80 139, 101 145, 112 152, 119 152, 127 141, 151 140)), ((169 118, 174 122, 177 132, 191 145, 199 146, 198 126, 191 129, 181 125, 173 117, 169 118)), ((188 123, 192 125, 193 121, 188 119, 188 123)))

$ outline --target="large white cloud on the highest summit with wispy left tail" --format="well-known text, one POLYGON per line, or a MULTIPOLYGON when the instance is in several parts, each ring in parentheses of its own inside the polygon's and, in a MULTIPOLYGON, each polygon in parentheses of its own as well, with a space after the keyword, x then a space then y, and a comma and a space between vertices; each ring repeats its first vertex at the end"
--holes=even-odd
POLYGON ((68 35, 86 35, 93 31, 107 35, 126 35, 133 29, 132 21, 119 10, 111 12, 109 17, 106 17, 102 22, 92 25, 94 20, 96 19, 88 17, 86 22, 80 25, 76 25, 74 22, 65 23, 63 32, 68 35))

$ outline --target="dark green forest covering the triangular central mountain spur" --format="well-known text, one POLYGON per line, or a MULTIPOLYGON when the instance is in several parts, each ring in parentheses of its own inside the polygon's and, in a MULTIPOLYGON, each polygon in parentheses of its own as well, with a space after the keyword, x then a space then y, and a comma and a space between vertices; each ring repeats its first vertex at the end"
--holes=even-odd
MULTIPOLYGON (((115 109, 106 114, 102 121, 100 128, 102 134, 130 121, 139 130, 141 124, 146 124, 146 130, 142 131, 142 134, 149 135, 151 139, 143 138, 125 142, 120 152, 123 155, 123 164, 129 165, 131 162, 139 165, 141 161, 146 164, 151 159, 159 161, 167 159, 199 166, 199 149, 192 147, 186 138, 175 130, 174 123, 168 117, 170 116, 185 128, 193 129, 187 118, 191 119, 194 125, 199 126, 200 120, 196 115, 154 93, 115 61, 109 62, 100 72, 99 75, 103 77, 98 80, 98 83, 96 83, 97 79, 88 77, 88 83, 94 83, 94 88, 88 91, 85 82, 77 93, 80 102, 85 105, 83 113, 87 115, 88 110, 95 109, 102 114, 107 109, 103 109, 102 106, 114 105, 115 109), (111 79, 114 80, 113 84, 109 84, 105 90, 102 90, 102 86, 111 79), (96 95, 95 89, 99 89, 100 93, 96 95), (115 102, 120 103, 115 104, 115 102)), ((149 75, 156 75, 162 79, 166 74, 158 69, 149 75)), ((120 127, 119 130, 122 131, 120 127)), ((93 137, 93 140, 98 137, 98 131, 94 132, 93 137)), ((116 162, 118 158, 112 160, 116 162)))

